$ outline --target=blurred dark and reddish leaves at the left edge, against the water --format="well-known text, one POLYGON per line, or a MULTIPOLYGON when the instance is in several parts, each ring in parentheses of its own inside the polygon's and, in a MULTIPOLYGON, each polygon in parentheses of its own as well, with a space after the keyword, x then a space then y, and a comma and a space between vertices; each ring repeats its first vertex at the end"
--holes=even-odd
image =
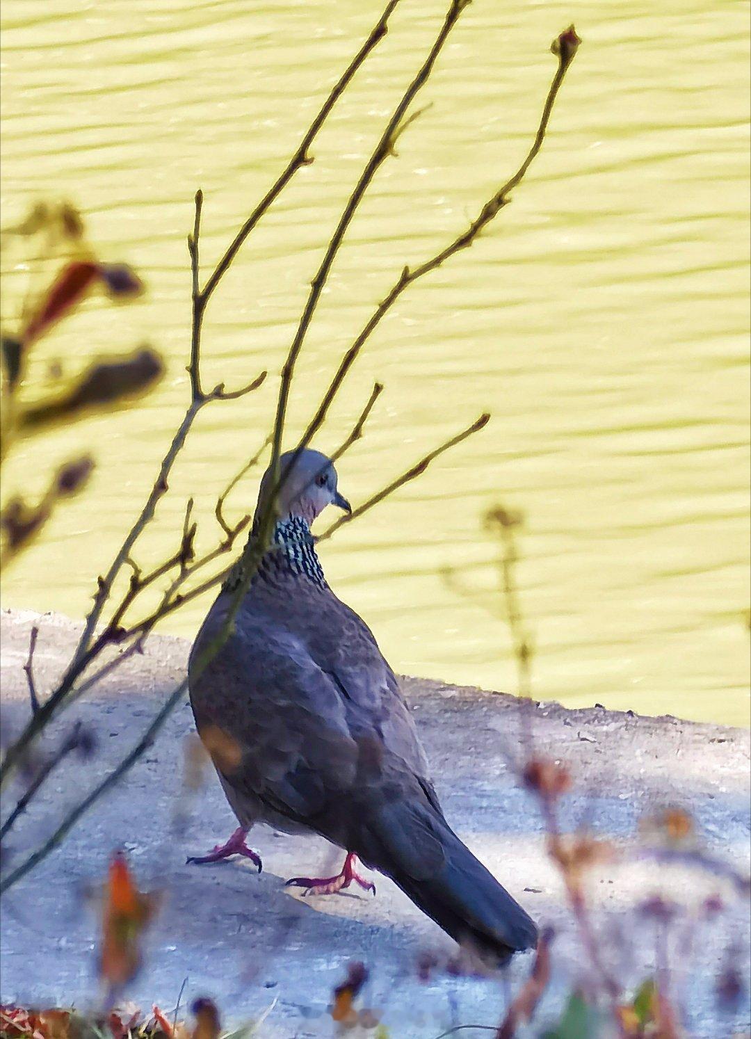
MULTIPOLYGON (((0 464, 20 441, 54 431, 84 415, 111 410, 145 393, 163 373, 161 356, 149 346, 131 353, 95 356, 72 379, 54 362, 43 390, 29 384, 29 361, 60 321, 99 292, 113 302, 129 301, 143 292, 143 283, 127 264, 98 259, 85 234, 83 217, 69 203, 39 203, 20 223, 0 233, 3 266, 14 250, 28 271, 20 311, 0 318, 0 464)), ((18 258, 16 258, 18 259, 18 258)), ((93 457, 86 452, 64 462, 34 501, 23 488, 11 490, 0 504, 0 565, 28 548, 61 500, 79 494, 88 482, 93 457)))

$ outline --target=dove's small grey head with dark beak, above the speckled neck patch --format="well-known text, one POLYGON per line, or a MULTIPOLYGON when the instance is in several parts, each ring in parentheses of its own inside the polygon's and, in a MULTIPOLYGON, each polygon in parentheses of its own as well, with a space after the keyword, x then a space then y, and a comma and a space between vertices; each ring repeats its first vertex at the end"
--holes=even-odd
MULTIPOLYGON (((294 456, 294 451, 287 451, 279 458, 279 476, 284 474, 294 456)), ((265 507, 267 496, 271 494, 273 474, 267 469, 261 481, 259 502, 256 516, 260 516, 265 507)), ((336 505, 345 512, 351 512, 349 502, 337 489, 337 470, 333 462, 320 451, 305 448, 301 451, 290 470, 276 499, 276 512, 279 520, 300 517, 310 526, 316 516, 320 515, 327 505, 336 505)))

